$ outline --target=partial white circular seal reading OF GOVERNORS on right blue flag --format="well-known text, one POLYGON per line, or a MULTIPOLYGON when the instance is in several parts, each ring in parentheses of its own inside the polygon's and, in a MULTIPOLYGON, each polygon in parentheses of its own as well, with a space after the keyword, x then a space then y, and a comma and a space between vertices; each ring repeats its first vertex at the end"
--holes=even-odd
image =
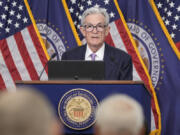
POLYGON ((152 84, 156 87, 161 73, 161 57, 156 46, 157 43, 155 43, 156 40, 148 33, 148 30, 143 29, 140 25, 135 23, 127 24, 135 40, 136 47, 140 52, 141 58, 149 70, 152 84))

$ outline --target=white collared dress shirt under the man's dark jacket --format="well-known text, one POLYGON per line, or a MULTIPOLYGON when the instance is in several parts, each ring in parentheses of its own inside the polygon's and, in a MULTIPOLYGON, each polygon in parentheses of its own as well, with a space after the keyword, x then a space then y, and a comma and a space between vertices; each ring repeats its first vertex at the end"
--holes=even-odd
MULTIPOLYGON (((105 51, 105 44, 103 44, 101 46, 101 48, 95 53, 96 54, 96 57, 95 57, 95 61, 103 61, 104 59, 104 51, 105 51)), ((91 54, 93 52, 91 51, 91 49, 89 48, 89 46, 87 45, 87 48, 86 48, 86 53, 85 53, 85 60, 92 60, 91 59, 91 54)))

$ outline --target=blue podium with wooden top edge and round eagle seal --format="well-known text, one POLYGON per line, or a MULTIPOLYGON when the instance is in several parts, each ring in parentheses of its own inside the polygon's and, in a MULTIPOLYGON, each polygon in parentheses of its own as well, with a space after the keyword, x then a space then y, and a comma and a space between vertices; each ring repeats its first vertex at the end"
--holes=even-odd
POLYGON ((57 117, 64 123, 65 134, 93 134, 94 106, 107 96, 117 93, 129 95, 142 105, 150 130, 151 95, 141 81, 18 81, 16 84, 33 87, 47 96, 56 110, 57 117), (83 101, 84 108, 83 105, 72 107, 73 101, 77 100, 83 101), (87 115, 87 119, 76 121, 76 117, 88 114, 85 113, 86 105, 92 106, 91 114, 87 115), (66 112, 68 108, 71 112, 66 112))

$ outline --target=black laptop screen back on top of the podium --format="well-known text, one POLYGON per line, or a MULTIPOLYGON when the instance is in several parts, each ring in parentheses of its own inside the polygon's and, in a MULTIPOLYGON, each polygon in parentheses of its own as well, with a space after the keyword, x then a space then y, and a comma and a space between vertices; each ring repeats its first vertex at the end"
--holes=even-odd
POLYGON ((48 62, 49 80, 104 80, 104 61, 66 60, 48 62))

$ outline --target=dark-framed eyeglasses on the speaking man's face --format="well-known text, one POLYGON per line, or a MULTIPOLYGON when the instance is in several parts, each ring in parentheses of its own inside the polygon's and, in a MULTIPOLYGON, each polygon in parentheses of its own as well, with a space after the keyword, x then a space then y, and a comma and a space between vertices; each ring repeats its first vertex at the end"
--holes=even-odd
POLYGON ((105 27, 107 27, 107 25, 102 25, 102 24, 97 24, 96 26, 88 24, 88 25, 84 25, 83 26, 85 28, 86 31, 91 32, 94 30, 94 28, 96 28, 96 30, 98 32, 102 32, 104 30, 105 27))

